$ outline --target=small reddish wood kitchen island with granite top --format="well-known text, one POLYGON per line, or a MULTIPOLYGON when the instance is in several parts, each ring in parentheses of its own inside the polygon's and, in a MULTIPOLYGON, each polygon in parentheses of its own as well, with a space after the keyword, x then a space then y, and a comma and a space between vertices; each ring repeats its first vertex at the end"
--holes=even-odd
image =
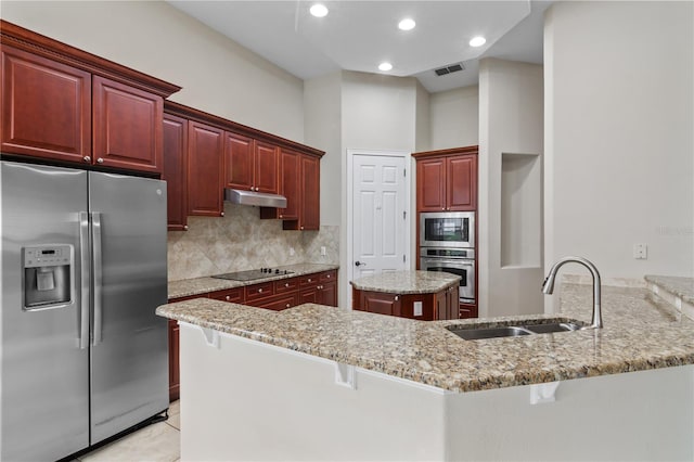
POLYGON ((433 321, 458 318, 460 275, 389 271, 351 281, 352 309, 433 321))

